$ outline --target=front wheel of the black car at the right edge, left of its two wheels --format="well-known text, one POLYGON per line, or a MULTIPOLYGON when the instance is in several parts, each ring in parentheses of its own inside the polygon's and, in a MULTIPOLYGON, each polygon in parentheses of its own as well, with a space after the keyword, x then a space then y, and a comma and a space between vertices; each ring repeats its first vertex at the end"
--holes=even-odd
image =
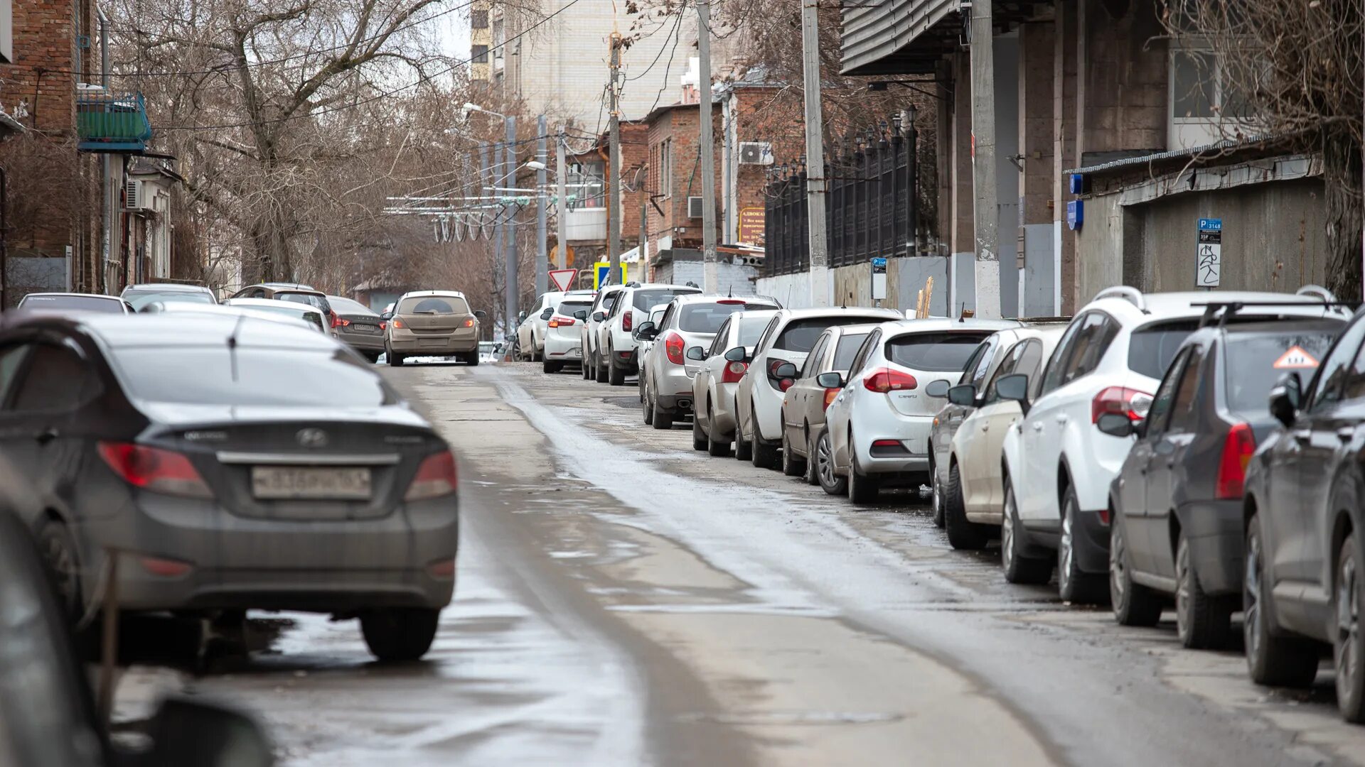
POLYGON ((1271 633, 1263 557, 1260 515, 1252 515, 1246 525, 1246 580, 1242 585, 1246 671, 1261 685, 1310 686, 1317 676, 1317 648, 1308 640, 1271 633))

